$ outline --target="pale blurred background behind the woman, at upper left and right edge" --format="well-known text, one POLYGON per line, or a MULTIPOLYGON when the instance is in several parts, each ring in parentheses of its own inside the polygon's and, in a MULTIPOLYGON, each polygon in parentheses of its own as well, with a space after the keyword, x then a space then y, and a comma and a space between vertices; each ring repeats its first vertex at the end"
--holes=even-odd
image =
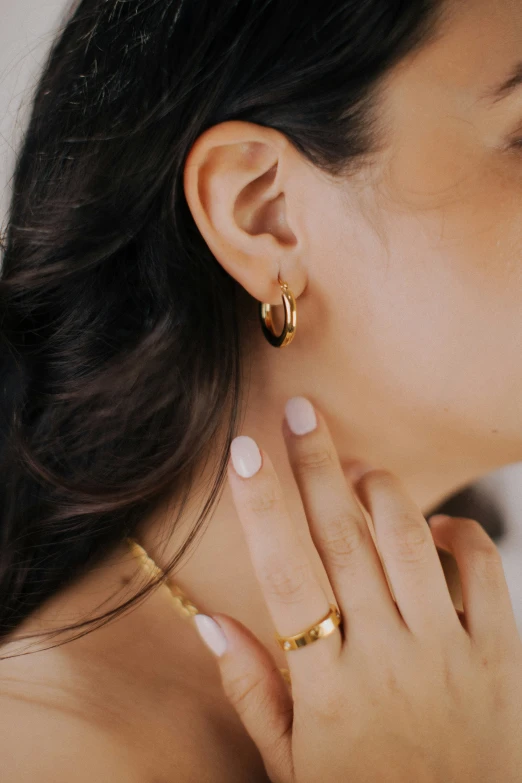
MULTIPOLYGON (((32 86, 56 28, 73 5, 76 0, 0 0, 0 233, 32 86)), ((472 517, 488 530, 502 554, 522 631, 522 463, 486 476, 430 511, 472 517)))

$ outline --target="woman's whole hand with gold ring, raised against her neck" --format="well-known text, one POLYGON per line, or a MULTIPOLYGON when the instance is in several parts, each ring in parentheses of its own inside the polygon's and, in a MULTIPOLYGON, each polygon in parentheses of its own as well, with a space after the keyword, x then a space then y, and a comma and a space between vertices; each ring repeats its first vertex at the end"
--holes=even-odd
MULTIPOLYGON (((224 690, 267 774, 274 783, 519 781, 522 643, 494 543, 471 519, 430 529, 388 471, 351 485, 317 411, 316 421, 304 435, 285 421, 283 433, 341 628, 286 653, 290 692, 266 648, 213 615, 228 642, 224 690), (436 545, 458 564, 462 618, 436 545)), ((253 441, 245 444, 255 458, 253 441)), ((229 481, 274 626, 292 635, 324 617, 329 600, 261 457, 251 478, 230 465, 229 481)))

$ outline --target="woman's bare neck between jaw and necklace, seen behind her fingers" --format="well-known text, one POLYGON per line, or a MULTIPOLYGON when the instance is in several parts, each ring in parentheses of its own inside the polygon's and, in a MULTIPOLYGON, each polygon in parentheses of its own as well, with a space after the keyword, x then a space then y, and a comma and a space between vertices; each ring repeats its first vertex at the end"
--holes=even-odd
MULTIPOLYGON (((317 400, 315 395, 308 396, 312 401, 317 400)), ((307 520, 280 434, 280 411, 283 410, 285 398, 278 400, 277 404, 271 402, 267 407, 258 405, 259 401, 253 401, 252 396, 249 400, 252 402, 250 412, 246 414, 241 431, 255 438, 270 454, 282 486, 285 488, 290 514, 298 529, 302 531, 312 557, 314 554, 317 557, 308 536, 307 520), (256 411, 256 415, 254 416, 251 411, 256 411)), ((377 438, 370 433, 369 442, 371 440, 374 444, 382 444, 382 453, 376 454, 375 447, 370 448, 369 445, 367 449, 359 447, 352 452, 346 448, 346 444, 353 442, 354 438, 350 438, 346 430, 342 431, 335 422, 328 420, 328 412, 325 413, 324 407, 322 411, 331 431, 338 434, 336 442, 341 461, 347 464, 354 458, 362 458, 376 467, 391 470, 402 479, 425 515, 446 497, 487 472, 481 466, 465 465, 462 459, 452 458, 447 449, 427 449, 425 443, 422 454, 419 454, 418 447, 413 448, 413 439, 410 441, 405 427, 395 426, 396 439, 393 440, 393 437, 389 437, 389 422, 385 425, 378 416, 375 417, 378 420, 375 428, 381 427, 380 432, 386 433, 386 437, 382 437, 381 434, 381 437, 377 438), (401 459, 401 455, 406 456, 401 459)), ((356 428, 354 432, 357 434, 356 428)), ((362 443, 360 435, 356 440, 359 444, 362 443)), ((160 566, 164 566, 173 557, 195 524, 206 499, 205 482, 208 482, 206 474, 201 477, 199 486, 194 487, 193 492, 193 498, 198 497, 201 502, 197 503, 194 500, 189 504, 190 508, 178 521, 174 534, 172 516, 169 516, 167 511, 162 511, 154 520, 148 520, 144 525, 139 541, 160 566), (167 546, 164 544, 166 538, 167 546)), ((211 517, 203 525, 195 544, 183 558, 172 578, 199 611, 206 614, 223 612, 239 620, 265 644, 273 654, 277 665, 285 666, 284 654, 273 638, 274 626, 250 563, 241 523, 228 483, 225 484, 211 517)))

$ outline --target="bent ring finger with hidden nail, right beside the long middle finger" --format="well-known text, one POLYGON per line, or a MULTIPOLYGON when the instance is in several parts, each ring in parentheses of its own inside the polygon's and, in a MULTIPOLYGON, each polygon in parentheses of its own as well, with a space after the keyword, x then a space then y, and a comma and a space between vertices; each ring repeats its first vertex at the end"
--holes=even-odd
POLYGON ((356 490, 371 514, 399 610, 414 633, 462 631, 430 528, 398 477, 366 473, 356 490))

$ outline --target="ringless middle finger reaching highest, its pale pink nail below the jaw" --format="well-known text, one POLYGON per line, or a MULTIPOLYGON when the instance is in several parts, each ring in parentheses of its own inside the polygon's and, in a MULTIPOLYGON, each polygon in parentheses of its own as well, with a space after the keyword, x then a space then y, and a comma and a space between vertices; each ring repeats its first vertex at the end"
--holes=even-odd
POLYGON ((354 630, 356 622, 402 624, 323 416, 304 397, 289 400, 285 414, 283 434, 310 533, 347 623, 354 630))

